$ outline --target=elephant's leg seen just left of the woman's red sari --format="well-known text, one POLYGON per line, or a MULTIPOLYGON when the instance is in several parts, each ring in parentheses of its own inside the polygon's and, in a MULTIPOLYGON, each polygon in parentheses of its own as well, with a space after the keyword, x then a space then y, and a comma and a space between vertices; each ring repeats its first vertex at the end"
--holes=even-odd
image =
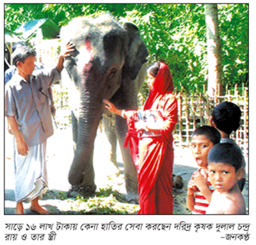
POLYGON ((138 203, 138 177, 137 171, 132 161, 129 147, 124 148, 124 140, 127 133, 126 120, 120 116, 116 116, 116 136, 120 145, 122 158, 124 161, 124 178, 125 188, 127 191, 127 201, 138 203))

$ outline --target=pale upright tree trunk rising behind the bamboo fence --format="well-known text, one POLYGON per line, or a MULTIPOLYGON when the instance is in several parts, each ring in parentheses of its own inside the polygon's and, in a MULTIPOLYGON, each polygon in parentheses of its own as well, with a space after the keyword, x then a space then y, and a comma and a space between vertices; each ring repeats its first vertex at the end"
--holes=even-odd
POLYGON ((205 4, 207 35, 208 95, 222 94, 222 59, 217 4, 205 4))

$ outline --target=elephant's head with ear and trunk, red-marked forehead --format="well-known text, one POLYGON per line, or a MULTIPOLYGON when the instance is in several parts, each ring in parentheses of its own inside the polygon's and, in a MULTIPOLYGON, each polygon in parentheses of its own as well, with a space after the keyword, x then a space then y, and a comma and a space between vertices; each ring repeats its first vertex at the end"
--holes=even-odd
MULTIPOLYGON (((129 96, 136 97, 138 93, 134 81, 148 52, 134 24, 122 27, 108 14, 72 20, 61 29, 61 39, 76 47, 64 65, 79 95, 76 108, 72 108, 77 119, 77 148, 72 166, 84 162, 80 171, 86 174, 84 169, 92 168, 88 162, 92 162, 93 143, 104 109, 102 100, 112 100, 116 106, 122 106, 123 100, 126 106, 134 107, 129 96)), ((76 179, 76 184, 81 182, 76 179)))

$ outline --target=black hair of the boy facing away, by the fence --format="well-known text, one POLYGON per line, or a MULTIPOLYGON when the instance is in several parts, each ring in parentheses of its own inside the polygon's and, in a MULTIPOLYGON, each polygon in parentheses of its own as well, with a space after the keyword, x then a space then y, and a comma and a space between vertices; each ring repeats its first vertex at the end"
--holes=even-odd
POLYGON ((240 126, 241 110, 239 106, 232 102, 221 102, 212 110, 212 120, 217 129, 231 134, 236 131, 240 126))

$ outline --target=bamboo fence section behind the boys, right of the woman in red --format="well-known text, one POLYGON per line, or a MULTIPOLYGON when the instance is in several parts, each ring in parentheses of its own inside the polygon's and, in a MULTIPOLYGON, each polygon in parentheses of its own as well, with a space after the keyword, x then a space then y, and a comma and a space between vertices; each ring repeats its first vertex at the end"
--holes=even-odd
POLYGON ((214 106, 223 101, 230 101, 240 107, 242 115, 239 129, 232 133, 237 145, 243 150, 245 156, 248 155, 248 88, 243 87, 243 94, 239 93, 237 86, 234 93, 226 91, 226 95, 215 95, 209 97, 204 95, 177 94, 179 106, 179 122, 173 133, 175 146, 189 146, 191 134, 202 125, 210 125, 211 112, 214 106))

